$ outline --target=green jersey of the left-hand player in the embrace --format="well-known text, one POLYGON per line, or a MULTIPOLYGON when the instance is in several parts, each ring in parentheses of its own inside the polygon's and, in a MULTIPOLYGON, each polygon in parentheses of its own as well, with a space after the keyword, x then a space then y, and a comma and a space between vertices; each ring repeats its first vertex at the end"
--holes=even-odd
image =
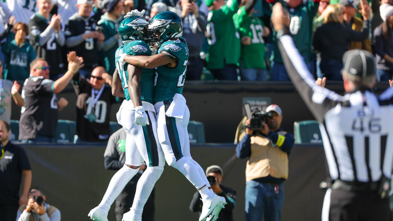
MULTIPOLYGON (((149 46, 140 40, 129 42, 123 46, 120 46, 116 50, 115 62, 118 69, 119 76, 121 78, 121 86, 123 87, 124 96, 129 101, 130 94, 128 92, 128 78, 127 65, 124 66, 125 71, 120 70, 119 58, 122 53, 127 55, 151 55, 149 46)), ((144 68, 141 76, 141 100, 153 103, 153 92, 154 92, 154 69, 144 68)))

